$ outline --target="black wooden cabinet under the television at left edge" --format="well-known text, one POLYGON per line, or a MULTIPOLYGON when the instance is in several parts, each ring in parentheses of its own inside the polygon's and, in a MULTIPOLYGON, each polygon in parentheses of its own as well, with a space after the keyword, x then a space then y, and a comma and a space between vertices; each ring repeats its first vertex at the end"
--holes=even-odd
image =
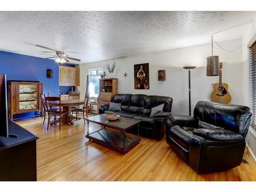
POLYGON ((11 120, 9 134, 18 137, 0 136, 0 181, 36 181, 38 137, 11 120))

